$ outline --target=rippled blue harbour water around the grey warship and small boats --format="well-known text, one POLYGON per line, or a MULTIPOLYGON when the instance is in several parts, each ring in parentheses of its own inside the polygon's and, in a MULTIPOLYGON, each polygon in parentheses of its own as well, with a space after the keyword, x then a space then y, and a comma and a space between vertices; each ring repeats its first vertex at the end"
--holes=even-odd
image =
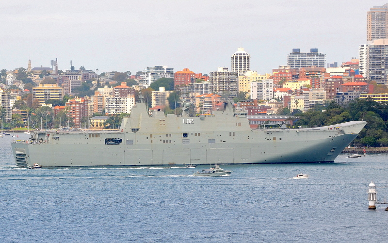
POLYGON ((0 139, 0 242, 387 241, 388 205, 367 201, 371 180, 388 198, 387 154, 205 178, 192 176, 204 165, 17 168, 11 139, 0 139), (310 177, 291 179, 300 172, 310 177))

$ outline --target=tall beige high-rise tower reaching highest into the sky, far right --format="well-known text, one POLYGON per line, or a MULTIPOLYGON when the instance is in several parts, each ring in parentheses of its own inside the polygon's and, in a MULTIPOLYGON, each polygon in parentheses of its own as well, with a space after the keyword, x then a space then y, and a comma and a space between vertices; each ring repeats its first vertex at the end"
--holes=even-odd
POLYGON ((367 12, 367 41, 388 38, 388 3, 367 12))

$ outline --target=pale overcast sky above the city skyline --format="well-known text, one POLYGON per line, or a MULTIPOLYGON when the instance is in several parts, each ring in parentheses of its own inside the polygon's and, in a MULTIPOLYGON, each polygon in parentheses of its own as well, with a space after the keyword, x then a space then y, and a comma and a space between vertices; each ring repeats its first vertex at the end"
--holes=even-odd
POLYGON ((293 48, 326 62, 358 57, 366 12, 388 0, 0 0, 0 69, 51 67, 98 73, 167 65, 199 73, 230 68, 241 46, 270 73, 293 48))

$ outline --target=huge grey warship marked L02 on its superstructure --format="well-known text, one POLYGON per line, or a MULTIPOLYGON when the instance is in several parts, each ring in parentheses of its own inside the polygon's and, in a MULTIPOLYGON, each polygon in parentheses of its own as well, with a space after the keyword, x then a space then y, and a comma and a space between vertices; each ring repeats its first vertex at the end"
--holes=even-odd
POLYGON ((16 165, 30 167, 333 162, 365 126, 252 130, 231 103, 191 117, 137 103, 118 131, 34 131, 11 142, 16 165))

